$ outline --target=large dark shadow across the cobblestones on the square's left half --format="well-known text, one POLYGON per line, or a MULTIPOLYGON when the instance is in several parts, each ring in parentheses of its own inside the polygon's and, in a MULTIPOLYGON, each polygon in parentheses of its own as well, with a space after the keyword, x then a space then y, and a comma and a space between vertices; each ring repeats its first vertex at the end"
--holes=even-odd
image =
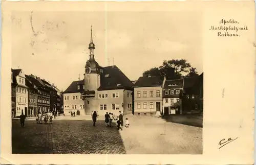
POLYGON ((114 124, 104 121, 56 120, 53 124, 26 121, 20 127, 12 121, 13 154, 126 154, 123 140, 114 124))

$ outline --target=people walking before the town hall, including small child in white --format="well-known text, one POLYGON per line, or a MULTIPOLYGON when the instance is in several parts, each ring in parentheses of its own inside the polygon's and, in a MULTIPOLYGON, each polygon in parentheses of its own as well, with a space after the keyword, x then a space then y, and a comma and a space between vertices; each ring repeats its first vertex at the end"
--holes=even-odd
MULTIPOLYGON (((98 113, 96 111, 92 112, 92 119, 93 119, 93 126, 96 126, 96 121, 97 121, 97 117, 98 117, 98 113)), ((105 127, 113 127, 112 123, 113 120, 116 121, 117 123, 117 130, 123 130, 123 115, 121 113, 121 111, 119 111, 119 115, 117 116, 117 118, 115 119, 114 114, 113 113, 108 113, 106 112, 105 114, 105 127)), ((129 121, 126 118, 125 119, 125 127, 128 128, 129 127, 129 121)))

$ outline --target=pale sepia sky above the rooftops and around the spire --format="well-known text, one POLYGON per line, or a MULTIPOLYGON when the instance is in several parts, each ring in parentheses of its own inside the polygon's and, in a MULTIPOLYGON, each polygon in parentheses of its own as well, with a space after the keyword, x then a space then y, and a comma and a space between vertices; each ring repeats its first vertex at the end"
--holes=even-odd
POLYGON ((92 25, 96 61, 130 80, 171 59, 201 74, 201 21, 193 12, 13 12, 12 68, 66 90, 83 79, 92 25))

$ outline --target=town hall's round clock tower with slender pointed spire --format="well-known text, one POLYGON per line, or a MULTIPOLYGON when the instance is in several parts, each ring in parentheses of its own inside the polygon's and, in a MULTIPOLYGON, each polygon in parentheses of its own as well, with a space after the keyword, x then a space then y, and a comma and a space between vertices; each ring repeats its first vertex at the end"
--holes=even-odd
POLYGON ((94 59, 95 44, 93 43, 93 32, 91 27, 91 42, 89 43, 90 58, 86 62, 84 74, 84 110, 86 114, 99 109, 97 89, 100 87, 100 66, 94 59))

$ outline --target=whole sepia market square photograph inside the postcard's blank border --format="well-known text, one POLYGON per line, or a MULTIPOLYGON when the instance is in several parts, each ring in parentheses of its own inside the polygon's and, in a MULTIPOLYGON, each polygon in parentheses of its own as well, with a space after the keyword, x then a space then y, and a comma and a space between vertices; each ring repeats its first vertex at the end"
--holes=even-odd
POLYGON ((199 12, 11 18, 13 154, 202 154, 199 12))

